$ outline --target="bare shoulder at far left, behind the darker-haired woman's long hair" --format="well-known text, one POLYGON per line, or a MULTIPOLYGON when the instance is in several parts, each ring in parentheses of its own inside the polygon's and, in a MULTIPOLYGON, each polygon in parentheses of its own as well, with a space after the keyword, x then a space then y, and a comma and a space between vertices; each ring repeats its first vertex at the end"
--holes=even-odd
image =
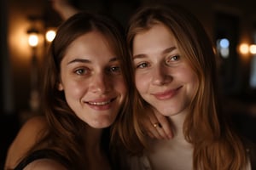
POLYGON ((5 167, 15 167, 20 158, 42 138, 43 132, 47 127, 44 116, 34 116, 20 128, 13 143, 9 146, 5 167))

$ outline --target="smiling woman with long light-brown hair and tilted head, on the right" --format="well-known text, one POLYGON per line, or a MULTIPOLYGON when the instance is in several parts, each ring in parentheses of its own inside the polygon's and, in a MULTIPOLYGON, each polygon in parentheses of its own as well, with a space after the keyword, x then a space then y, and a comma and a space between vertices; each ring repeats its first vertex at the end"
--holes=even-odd
MULTIPOLYGON (((119 134, 141 154, 134 169, 253 169, 253 148, 222 112, 217 58, 195 16, 174 4, 148 5, 131 17, 127 39, 137 86, 131 122, 140 143, 122 135, 131 124, 120 126, 119 134), (168 118, 173 139, 148 139, 142 126, 148 108, 168 118)), ((157 119, 148 122, 161 129, 157 119)))

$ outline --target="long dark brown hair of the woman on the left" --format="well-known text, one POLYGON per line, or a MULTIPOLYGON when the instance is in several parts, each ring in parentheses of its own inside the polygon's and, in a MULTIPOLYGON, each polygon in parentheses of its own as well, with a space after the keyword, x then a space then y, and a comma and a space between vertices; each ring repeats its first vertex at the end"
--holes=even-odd
MULTIPOLYGON (((67 48, 78 37, 90 31, 99 31, 106 37, 109 47, 119 59, 121 71, 126 88, 132 86, 131 71, 127 63, 131 62, 125 44, 125 33, 122 26, 106 14, 79 13, 66 20, 58 28, 54 41, 49 48, 49 55, 45 58, 43 80, 43 109, 49 125, 47 134, 36 144, 32 150, 51 149, 65 157, 73 169, 86 169, 88 163, 84 151, 84 131, 87 126, 76 116, 67 105, 64 93, 58 90, 60 81, 60 65, 67 48), (42 146, 43 144, 43 146, 42 146)), ((99 47, 100 48, 100 47, 99 47)), ((129 111, 128 104, 131 99, 127 94, 123 109, 119 115, 129 111)), ((102 148, 111 155, 109 149, 109 128, 104 130, 102 148)), ((86 136, 86 134, 85 134, 86 136)), ((86 150, 86 149, 85 149, 86 150)), ((111 160, 110 160, 111 161, 111 160)))

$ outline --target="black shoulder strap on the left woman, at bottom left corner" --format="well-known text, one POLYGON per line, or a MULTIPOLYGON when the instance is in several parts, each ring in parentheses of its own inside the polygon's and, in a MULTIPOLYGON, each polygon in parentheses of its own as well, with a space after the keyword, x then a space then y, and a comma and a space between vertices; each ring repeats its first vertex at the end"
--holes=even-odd
POLYGON ((24 167, 26 167, 29 163, 32 161, 36 161, 38 159, 53 159, 55 161, 60 162, 65 167, 70 167, 67 159, 64 156, 61 156, 58 154, 55 150, 35 150, 30 154, 29 156, 26 156, 20 163, 15 167, 14 170, 22 170, 24 167))

